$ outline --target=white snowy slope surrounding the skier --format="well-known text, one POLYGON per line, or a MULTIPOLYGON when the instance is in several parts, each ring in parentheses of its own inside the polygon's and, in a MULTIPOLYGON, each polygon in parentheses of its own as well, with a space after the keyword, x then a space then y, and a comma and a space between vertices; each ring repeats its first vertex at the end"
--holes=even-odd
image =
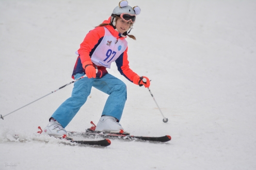
MULTIPOLYGON (((1 115, 72 81, 85 35, 118 0, 0 0, 1 115)), ((111 140, 106 148, 40 142, 67 86, 0 120, 0 169, 256 169, 256 1, 129 1, 141 14, 129 42, 131 68, 150 89, 127 85, 121 124, 132 135, 163 136, 164 144, 111 140), (19 134, 26 142, 15 140, 19 134), (13 165, 14 167, 10 167, 13 165)), ((97 123, 107 95, 92 89, 67 126, 97 123)))

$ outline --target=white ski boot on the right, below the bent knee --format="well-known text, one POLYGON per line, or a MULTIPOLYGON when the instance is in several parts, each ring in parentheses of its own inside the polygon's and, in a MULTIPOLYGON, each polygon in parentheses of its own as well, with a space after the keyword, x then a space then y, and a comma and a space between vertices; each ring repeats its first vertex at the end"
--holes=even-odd
POLYGON ((117 122, 117 119, 111 116, 102 116, 95 130, 107 133, 121 133, 130 135, 130 133, 123 130, 123 127, 117 122))

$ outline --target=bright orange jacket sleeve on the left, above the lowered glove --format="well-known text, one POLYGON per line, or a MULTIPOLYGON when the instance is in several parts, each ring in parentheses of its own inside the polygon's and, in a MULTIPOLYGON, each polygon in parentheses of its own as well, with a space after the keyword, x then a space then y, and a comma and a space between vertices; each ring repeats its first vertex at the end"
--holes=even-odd
POLYGON ((94 49, 101 43, 104 35, 104 27, 97 27, 88 32, 84 41, 81 43, 80 48, 77 50, 82 64, 85 61, 91 61, 91 55, 94 49))

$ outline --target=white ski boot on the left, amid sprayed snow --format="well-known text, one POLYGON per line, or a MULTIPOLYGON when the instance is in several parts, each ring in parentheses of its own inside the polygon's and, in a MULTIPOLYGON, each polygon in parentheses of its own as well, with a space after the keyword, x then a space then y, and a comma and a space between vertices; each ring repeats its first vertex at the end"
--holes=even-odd
POLYGON ((42 131, 42 135, 49 135, 54 137, 62 137, 67 135, 67 131, 55 119, 51 119, 50 123, 42 131))

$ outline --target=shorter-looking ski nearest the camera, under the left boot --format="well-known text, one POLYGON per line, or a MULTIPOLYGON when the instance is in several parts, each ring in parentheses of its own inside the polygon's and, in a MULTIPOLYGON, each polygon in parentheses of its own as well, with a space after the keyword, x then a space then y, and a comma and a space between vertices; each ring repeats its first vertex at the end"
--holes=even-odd
MULTIPOLYGON (((40 126, 38 126, 39 131, 37 132, 37 134, 41 134, 42 133, 42 129, 40 126)), ((73 140, 73 138, 67 136, 67 135, 63 135, 62 137, 55 137, 57 139, 63 139, 63 140, 67 140, 69 142, 72 143, 78 143, 78 144, 83 144, 83 145, 95 145, 95 146, 109 146, 111 144, 111 141, 109 139, 101 139, 101 140, 73 140)))

